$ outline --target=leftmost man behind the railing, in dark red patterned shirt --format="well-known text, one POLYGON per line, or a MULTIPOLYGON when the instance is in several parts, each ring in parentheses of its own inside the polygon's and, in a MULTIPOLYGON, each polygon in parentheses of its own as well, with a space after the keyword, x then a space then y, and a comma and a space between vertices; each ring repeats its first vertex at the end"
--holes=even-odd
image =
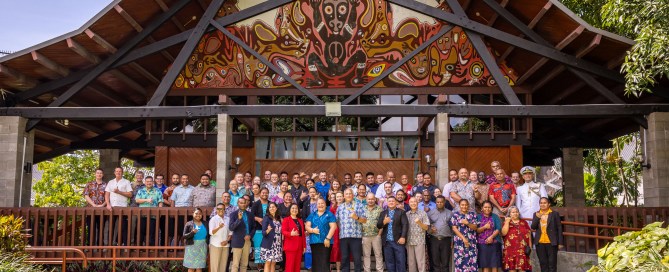
MULTIPOLYGON (((102 180, 102 177, 104 177, 102 169, 95 169, 95 180, 87 183, 84 188, 84 198, 89 207, 104 208, 107 206, 107 201, 105 200, 105 188, 107 187, 107 183, 102 180)), ((86 227, 92 238, 91 245, 99 245, 100 237, 102 237, 101 229, 104 229, 104 225, 107 224, 107 221, 108 218, 105 216, 92 215, 86 217, 86 227)))

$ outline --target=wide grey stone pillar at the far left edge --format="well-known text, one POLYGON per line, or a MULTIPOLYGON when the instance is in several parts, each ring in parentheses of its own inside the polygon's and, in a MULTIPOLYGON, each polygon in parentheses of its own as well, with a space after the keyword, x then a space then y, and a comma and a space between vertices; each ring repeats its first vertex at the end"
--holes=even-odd
POLYGON ((27 121, 0 116, 0 207, 30 206, 34 132, 25 131, 27 121))

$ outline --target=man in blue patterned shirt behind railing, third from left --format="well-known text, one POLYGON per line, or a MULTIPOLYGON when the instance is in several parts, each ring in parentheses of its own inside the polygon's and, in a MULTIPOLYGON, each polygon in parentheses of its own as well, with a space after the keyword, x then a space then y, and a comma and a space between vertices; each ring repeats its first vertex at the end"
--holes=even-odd
MULTIPOLYGON (((163 193, 160 189, 153 186, 153 177, 148 176, 144 179, 144 187, 139 189, 137 196, 135 196, 135 202, 139 207, 162 207, 163 206, 163 193)), ((139 220, 139 241, 137 245, 141 246, 142 242, 146 243, 147 246, 155 245, 156 239, 156 217, 155 216, 142 216, 139 220), (146 238, 146 225, 149 225, 149 239, 146 238)))

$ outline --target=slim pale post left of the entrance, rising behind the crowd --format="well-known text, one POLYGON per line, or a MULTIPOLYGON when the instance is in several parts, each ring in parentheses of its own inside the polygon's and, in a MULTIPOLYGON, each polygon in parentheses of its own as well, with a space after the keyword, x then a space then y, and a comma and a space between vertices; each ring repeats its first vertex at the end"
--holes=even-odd
POLYGON ((218 115, 218 136, 216 139, 216 201, 221 201, 221 194, 227 190, 232 179, 228 166, 232 163, 232 117, 218 115))

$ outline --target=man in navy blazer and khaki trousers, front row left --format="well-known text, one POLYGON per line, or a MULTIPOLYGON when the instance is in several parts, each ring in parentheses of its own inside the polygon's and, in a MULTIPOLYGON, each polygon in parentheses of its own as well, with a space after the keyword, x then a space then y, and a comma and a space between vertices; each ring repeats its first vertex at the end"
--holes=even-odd
POLYGON ((239 210, 230 214, 232 271, 246 272, 249 264, 249 250, 252 234, 255 233, 255 221, 253 221, 253 215, 246 210, 248 204, 246 199, 240 198, 237 201, 239 210))

